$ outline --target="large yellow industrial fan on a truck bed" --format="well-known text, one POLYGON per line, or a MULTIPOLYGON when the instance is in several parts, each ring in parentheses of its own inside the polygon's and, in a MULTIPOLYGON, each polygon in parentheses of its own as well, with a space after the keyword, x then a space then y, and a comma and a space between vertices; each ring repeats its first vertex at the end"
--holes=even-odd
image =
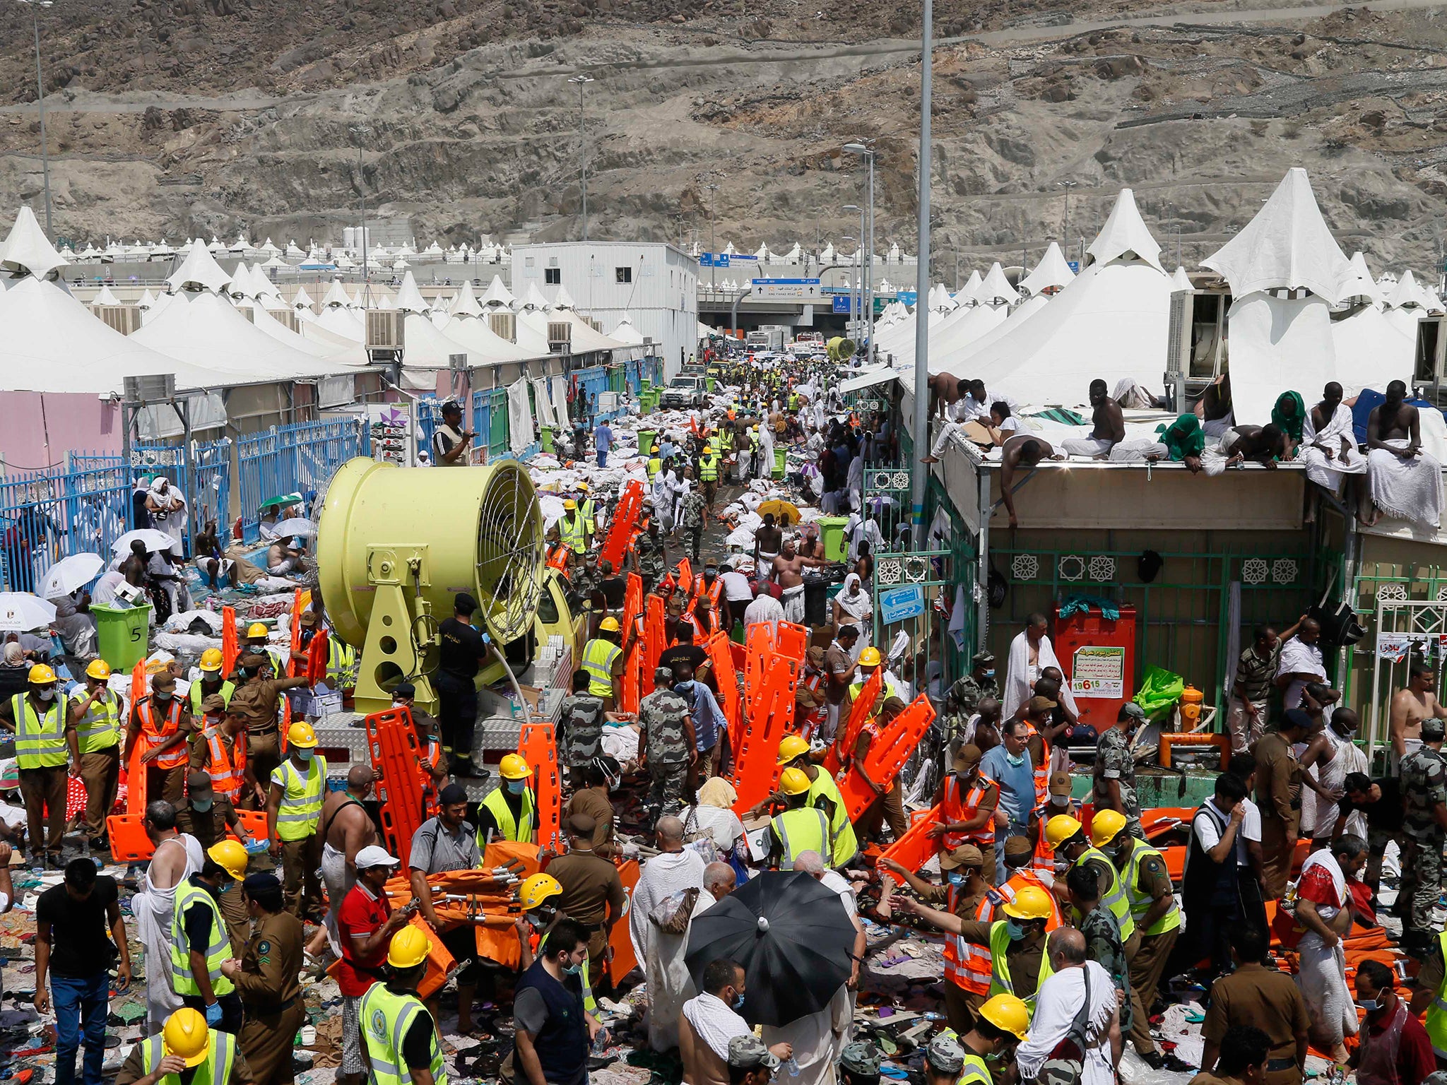
POLYGON ((331 628, 362 647, 357 709, 385 709, 392 687, 408 680, 418 703, 436 712, 437 624, 451 616, 454 596, 478 600, 476 618, 501 660, 532 631, 544 569, 543 514, 517 460, 343 464, 327 489, 317 570, 331 628))

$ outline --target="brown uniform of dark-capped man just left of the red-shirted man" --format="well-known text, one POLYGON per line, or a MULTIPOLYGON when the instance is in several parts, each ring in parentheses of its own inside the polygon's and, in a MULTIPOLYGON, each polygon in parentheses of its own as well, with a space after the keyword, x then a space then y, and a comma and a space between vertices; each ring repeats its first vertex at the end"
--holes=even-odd
POLYGON ((236 992, 246 1007, 237 1037, 256 1085, 291 1085, 291 1046, 307 1021, 297 974, 302 959, 301 920, 289 911, 266 916, 242 955, 236 992))

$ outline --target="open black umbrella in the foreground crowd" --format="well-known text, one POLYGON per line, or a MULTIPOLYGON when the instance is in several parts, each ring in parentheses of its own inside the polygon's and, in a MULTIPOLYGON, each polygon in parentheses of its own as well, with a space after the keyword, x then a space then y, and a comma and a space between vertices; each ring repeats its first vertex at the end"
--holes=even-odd
POLYGON ((854 923, 839 894, 803 872, 765 872, 689 924, 684 963, 699 990, 703 969, 726 958, 744 968, 742 1016, 789 1024, 823 1010, 854 968, 854 923))

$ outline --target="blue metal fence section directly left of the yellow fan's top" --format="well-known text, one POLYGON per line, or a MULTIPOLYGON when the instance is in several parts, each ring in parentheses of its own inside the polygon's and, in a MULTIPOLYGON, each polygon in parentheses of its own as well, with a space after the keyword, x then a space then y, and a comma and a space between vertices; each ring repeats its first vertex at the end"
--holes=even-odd
POLYGON ((337 467, 366 450, 366 425, 360 418, 278 425, 237 440, 243 538, 249 542, 260 538, 263 501, 292 492, 321 493, 337 467))

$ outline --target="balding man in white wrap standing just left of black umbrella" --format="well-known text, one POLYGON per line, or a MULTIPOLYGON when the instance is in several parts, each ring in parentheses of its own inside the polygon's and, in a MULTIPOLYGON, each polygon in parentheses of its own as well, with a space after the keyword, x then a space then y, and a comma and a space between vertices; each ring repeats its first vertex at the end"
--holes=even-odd
MULTIPOLYGON (((692 916, 713 904, 713 895, 703 888, 708 864, 692 848, 683 846, 683 822, 660 817, 654 830, 658 855, 648 859, 634 890, 628 913, 628 933, 632 936, 634 956, 644 965, 648 978, 648 1046, 666 1052, 679 1046, 679 1013, 695 995, 693 981, 683 962, 689 948, 689 933, 670 935, 658 923, 670 897, 684 890, 697 890, 692 916)), ((676 901, 673 901, 676 903, 676 901)))

